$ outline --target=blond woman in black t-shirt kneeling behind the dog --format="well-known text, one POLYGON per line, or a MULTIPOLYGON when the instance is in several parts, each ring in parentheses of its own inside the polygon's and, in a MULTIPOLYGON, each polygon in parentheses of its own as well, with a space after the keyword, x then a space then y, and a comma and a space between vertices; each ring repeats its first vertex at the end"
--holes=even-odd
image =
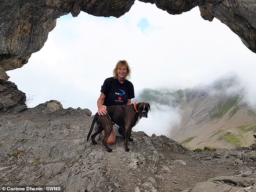
MULTIPOLYGON (((101 86, 101 95, 97 101, 98 114, 106 115, 107 106, 132 104, 131 99, 134 98, 134 88, 130 81, 130 67, 127 61, 118 61, 113 70, 113 77, 105 79, 101 86)), ((118 133, 125 137, 125 128, 119 127, 118 133)), ((102 131, 104 136, 105 131, 102 131)), ((107 144, 115 143, 115 130, 112 129, 107 140, 107 144)))

